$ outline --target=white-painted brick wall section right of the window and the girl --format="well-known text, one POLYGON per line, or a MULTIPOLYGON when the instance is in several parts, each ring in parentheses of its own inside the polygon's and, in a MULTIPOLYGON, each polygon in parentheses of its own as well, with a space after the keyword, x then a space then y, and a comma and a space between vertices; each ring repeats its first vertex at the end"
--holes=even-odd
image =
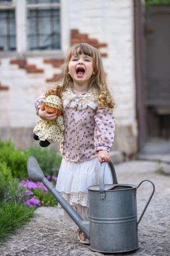
POLYGON ((116 122, 132 125, 136 116, 133 0, 71 0, 70 10, 72 29, 108 44, 100 52, 108 53, 103 61, 117 104, 116 122))

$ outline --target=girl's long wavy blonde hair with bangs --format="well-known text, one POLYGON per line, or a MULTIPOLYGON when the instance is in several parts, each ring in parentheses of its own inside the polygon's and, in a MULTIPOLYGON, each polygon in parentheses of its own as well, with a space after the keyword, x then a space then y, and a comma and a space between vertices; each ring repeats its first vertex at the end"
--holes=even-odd
POLYGON ((106 83, 105 71, 102 64, 102 57, 99 51, 89 44, 74 44, 70 47, 67 55, 65 56, 64 63, 61 67, 62 72, 57 81, 57 86, 48 90, 45 96, 55 94, 62 97, 62 92, 68 87, 73 85, 73 79, 68 74, 68 64, 73 55, 85 54, 93 59, 94 75, 91 76, 88 89, 96 88, 99 91, 98 102, 101 106, 108 106, 114 108, 115 102, 111 96, 111 92, 106 83))

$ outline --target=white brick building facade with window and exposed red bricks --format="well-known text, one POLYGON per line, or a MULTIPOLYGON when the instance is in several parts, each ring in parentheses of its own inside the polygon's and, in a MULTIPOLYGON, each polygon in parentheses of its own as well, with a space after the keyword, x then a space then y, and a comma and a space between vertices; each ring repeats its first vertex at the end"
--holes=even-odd
POLYGON ((55 83, 70 45, 86 42, 99 49, 116 101, 112 149, 136 152, 133 0, 4 0, 0 24, 2 140, 37 143, 34 101, 55 83))

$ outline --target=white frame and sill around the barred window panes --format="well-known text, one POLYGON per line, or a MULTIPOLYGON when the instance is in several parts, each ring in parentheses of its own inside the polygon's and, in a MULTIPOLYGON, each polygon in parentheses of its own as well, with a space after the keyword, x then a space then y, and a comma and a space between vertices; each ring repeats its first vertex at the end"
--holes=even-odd
POLYGON ((26 4, 26 0, 12 0, 12 3, 0 4, 2 9, 15 10, 16 22, 16 51, 2 51, 1 58, 6 57, 54 57, 62 58, 70 46, 70 33, 68 22, 68 1, 60 0, 60 3, 47 4, 26 4), (56 7, 60 6, 60 26, 61 26, 61 49, 56 50, 27 50, 27 9, 34 9, 36 7, 56 7), (20 13, 22 12, 22 15, 20 13))

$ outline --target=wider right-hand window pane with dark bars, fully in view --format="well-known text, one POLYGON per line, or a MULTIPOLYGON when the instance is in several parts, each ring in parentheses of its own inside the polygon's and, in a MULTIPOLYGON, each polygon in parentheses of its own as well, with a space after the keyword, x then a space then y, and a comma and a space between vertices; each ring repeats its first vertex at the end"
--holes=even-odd
POLYGON ((60 49, 60 9, 28 9, 28 49, 60 49))

